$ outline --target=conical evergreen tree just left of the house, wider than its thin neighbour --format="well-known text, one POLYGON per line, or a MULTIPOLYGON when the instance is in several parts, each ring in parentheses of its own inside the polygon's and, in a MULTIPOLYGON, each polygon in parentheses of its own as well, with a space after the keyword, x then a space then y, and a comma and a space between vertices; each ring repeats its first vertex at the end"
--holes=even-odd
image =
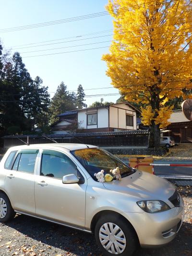
POLYGON ((58 120, 58 115, 75 109, 76 95, 74 93, 69 93, 67 86, 61 82, 57 87, 57 91, 50 104, 50 122, 53 123, 58 120))

